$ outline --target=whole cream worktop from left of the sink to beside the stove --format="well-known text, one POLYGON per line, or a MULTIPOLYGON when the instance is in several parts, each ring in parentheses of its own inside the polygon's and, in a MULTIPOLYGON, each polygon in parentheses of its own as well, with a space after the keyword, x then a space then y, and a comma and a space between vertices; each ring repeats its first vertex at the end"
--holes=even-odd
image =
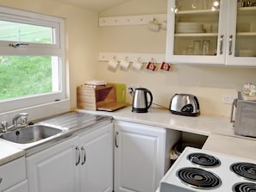
MULTIPOLYGON (((196 117, 172 115, 169 110, 152 108, 148 113, 133 113, 131 107, 114 112, 80 110, 97 115, 109 115, 115 120, 131 121, 156 127, 208 136, 203 149, 240 158, 256 160, 256 139, 234 135, 228 118, 199 115, 196 117)), ((0 139, 0 164, 22 157, 24 152, 0 139)))

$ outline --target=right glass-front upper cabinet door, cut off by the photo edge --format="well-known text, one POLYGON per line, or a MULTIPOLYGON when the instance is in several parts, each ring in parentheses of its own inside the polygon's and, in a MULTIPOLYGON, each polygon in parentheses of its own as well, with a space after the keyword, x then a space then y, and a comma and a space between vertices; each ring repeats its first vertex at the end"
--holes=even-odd
POLYGON ((233 2, 228 7, 231 14, 226 63, 256 66, 256 0, 233 2))

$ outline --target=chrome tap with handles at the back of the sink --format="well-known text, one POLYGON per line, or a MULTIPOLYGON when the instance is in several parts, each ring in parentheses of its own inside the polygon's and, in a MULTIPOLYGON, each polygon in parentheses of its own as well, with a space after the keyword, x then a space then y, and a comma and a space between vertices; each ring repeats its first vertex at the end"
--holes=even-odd
POLYGON ((27 125, 27 120, 28 120, 28 113, 20 113, 17 114, 13 117, 12 119, 12 125, 8 127, 7 121, 2 121, 1 126, 2 126, 2 133, 8 132, 9 129, 16 129, 18 127, 24 127, 27 125), (22 123, 18 124, 18 119, 21 118, 22 123))

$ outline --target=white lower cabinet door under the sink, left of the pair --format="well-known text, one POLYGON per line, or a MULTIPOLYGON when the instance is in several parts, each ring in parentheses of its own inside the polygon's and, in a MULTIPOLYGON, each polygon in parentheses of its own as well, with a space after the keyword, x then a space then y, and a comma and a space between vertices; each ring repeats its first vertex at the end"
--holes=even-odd
POLYGON ((78 137, 26 158, 29 192, 78 192, 78 137))

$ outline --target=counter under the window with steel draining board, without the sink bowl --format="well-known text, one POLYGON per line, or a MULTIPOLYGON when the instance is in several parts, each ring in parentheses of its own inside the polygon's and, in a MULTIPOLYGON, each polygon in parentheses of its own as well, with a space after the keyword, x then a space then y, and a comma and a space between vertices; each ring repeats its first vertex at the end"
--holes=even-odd
POLYGON ((5 139, 0 139, 0 165, 12 161, 22 156, 28 156, 39 152, 49 146, 62 142, 63 139, 72 137, 82 129, 102 125, 102 123, 111 122, 112 118, 102 115, 91 115, 89 113, 78 113, 78 111, 70 111, 61 115, 53 115, 48 118, 34 121, 34 125, 50 126, 61 129, 60 133, 54 134, 52 137, 28 142, 27 144, 13 143, 5 139))

